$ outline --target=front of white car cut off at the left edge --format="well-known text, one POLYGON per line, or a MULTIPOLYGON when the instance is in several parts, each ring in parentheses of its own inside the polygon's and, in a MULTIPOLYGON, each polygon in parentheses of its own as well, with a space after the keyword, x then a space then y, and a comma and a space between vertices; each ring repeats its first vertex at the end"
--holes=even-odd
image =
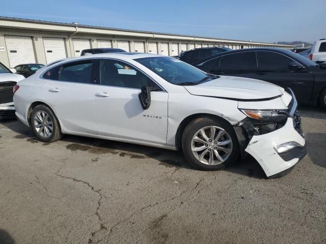
POLYGON ((5 65, 0 63, 0 119, 15 117, 13 103, 13 87, 18 81, 24 79, 22 75, 12 73, 5 65))

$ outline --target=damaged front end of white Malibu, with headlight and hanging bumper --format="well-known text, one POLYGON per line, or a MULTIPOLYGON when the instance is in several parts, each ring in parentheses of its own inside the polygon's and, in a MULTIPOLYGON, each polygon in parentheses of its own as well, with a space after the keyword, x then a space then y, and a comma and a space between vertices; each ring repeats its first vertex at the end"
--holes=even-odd
POLYGON ((267 177, 294 166, 307 153, 297 102, 289 93, 287 109, 239 109, 247 117, 234 125, 241 157, 251 154, 267 177))

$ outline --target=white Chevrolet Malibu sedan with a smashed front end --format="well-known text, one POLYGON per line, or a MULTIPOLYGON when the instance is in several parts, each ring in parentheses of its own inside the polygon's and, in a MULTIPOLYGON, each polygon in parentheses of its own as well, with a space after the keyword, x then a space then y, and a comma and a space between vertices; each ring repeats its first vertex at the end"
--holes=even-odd
POLYGON ((14 90, 37 138, 72 134, 183 150, 198 169, 252 155, 267 177, 306 154, 296 99, 264 81, 211 76, 156 54, 105 53, 44 67, 14 90))

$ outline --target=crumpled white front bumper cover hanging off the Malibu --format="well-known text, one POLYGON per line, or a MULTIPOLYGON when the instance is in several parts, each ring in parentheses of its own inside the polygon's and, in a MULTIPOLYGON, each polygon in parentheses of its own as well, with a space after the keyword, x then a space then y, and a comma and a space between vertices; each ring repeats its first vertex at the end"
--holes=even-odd
POLYGON ((307 153, 305 139, 294 129, 293 118, 288 117, 285 125, 273 132, 253 136, 249 141, 247 153, 253 156, 265 171, 267 177, 273 177, 300 161, 307 153), (296 142, 301 147, 278 154, 275 146, 286 142, 296 142))

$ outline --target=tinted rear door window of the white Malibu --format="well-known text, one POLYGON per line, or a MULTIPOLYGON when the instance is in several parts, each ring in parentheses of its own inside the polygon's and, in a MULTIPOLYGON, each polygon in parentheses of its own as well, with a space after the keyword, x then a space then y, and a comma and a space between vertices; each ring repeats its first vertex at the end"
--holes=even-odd
POLYGON ((92 68, 91 61, 65 65, 60 70, 59 80, 90 84, 92 68))

